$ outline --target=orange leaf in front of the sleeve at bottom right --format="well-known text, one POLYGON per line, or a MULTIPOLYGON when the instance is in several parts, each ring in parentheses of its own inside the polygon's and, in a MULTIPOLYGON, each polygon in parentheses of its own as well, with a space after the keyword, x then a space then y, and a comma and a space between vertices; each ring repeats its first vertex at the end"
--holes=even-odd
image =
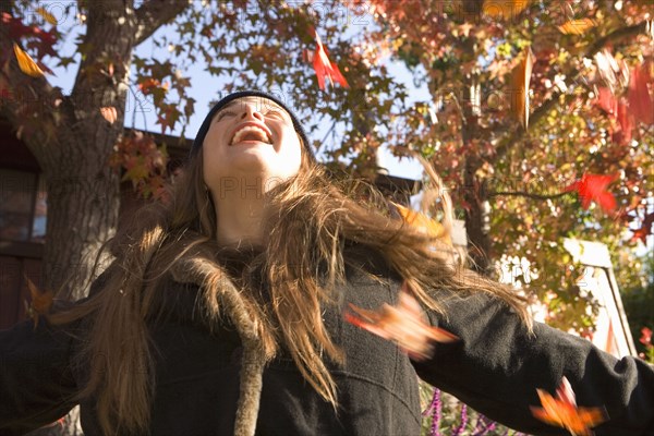
POLYGON ((578 408, 574 391, 566 377, 556 390, 556 398, 536 389, 542 408, 530 407, 532 414, 550 425, 566 428, 574 436, 590 436, 591 428, 607 421, 604 408, 578 408))

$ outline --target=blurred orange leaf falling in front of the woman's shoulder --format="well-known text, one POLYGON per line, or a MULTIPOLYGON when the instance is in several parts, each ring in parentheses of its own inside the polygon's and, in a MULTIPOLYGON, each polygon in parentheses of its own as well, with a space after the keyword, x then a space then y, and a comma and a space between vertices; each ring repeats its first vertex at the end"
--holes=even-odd
POLYGON ((367 311, 350 304, 346 320, 384 339, 396 342, 409 358, 424 360, 431 356, 433 341, 452 342, 459 338, 438 327, 432 327, 417 303, 402 284, 397 306, 384 304, 378 311, 367 311))

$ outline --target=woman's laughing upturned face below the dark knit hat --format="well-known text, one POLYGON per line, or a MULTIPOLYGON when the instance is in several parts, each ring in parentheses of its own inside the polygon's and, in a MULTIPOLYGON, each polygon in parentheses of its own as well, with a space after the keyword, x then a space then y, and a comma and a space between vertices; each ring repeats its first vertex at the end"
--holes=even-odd
POLYGON ((220 109, 203 143, 205 183, 268 191, 298 174, 302 145, 289 113, 263 97, 244 97, 220 109), (258 180, 257 180, 258 179, 258 180))

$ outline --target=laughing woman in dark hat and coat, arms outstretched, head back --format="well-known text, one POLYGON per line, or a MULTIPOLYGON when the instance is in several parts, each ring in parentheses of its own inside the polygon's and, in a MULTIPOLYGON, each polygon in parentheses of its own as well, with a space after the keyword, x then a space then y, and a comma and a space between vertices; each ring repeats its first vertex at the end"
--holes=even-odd
POLYGON ((258 92, 205 119, 166 205, 111 243, 89 298, 0 334, 0 434, 75 403, 88 435, 416 435, 415 375, 522 432, 536 388, 605 407, 597 435, 654 433, 654 371, 532 323, 510 289, 316 165, 295 116, 258 92), (366 198, 363 201, 362 198, 366 198), (402 283, 460 340, 412 361, 343 320, 402 283))

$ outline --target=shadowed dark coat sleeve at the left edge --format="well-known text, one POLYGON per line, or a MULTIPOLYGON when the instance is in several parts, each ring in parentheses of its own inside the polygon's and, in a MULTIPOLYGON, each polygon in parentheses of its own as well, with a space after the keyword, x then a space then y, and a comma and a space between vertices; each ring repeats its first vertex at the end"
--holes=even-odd
POLYGON ((69 365, 72 338, 32 320, 0 331, 0 435, 22 435, 64 416, 76 384, 69 365))

